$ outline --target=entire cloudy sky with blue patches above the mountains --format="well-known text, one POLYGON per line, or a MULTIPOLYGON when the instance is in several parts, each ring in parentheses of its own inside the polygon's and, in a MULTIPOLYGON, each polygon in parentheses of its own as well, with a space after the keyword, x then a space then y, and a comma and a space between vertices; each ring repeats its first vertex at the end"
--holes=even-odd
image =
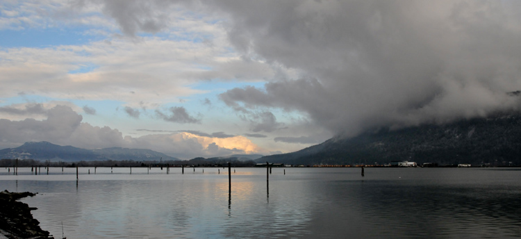
POLYGON ((190 159, 520 110, 520 1, 0 2, 0 149, 190 159))

